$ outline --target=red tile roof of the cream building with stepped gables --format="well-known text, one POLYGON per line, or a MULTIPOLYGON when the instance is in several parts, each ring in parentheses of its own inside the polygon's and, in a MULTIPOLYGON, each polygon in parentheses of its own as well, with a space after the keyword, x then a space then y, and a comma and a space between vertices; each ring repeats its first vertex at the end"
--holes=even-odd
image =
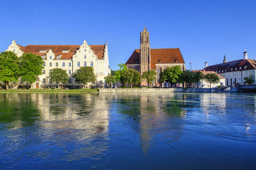
MULTIPOLYGON (((76 53, 81 45, 27 45, 23 47, 18 45, 24 53, 32 53, 36 55, 46 55, 51 49, 55 56, 61 55, 61 60, 70 60, 71 57, 76 53), (46 53, 40 53, 40 50, 46 50, 46 53), (62 53, 63 50, 68 50, 68 53, 62 53)), ((103 59, 103 53, 105 45, 89 45, 94 51, 94 54, 98 56, 98 59, 103 59)), ((55 57, 56 59, 56 57, 55 57)))

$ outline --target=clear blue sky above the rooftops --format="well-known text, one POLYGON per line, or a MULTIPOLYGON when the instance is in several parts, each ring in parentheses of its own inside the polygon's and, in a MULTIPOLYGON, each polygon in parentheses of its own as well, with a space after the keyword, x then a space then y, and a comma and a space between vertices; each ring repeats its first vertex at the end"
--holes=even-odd
POLYGON ((108 42, 112 70, 140 46, 146 26, 151 48, 179 47, 190 69, 248 56, 256 59, 255 1, 0 1, 0 52, 12 40, 29 44, 108 42))

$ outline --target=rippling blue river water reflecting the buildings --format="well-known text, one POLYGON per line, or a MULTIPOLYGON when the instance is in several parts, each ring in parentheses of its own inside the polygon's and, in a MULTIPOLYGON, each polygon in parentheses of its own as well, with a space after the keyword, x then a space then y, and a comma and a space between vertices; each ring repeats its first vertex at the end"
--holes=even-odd
POLYGON ((256 169, 255 94, 0 93, 0 169, 256 169))

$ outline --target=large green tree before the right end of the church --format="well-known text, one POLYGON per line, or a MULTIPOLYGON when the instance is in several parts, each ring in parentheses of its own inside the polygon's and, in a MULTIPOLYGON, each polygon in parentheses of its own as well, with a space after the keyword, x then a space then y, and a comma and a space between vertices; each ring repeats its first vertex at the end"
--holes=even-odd
POLYGON ((175 83, 179 82, 179 76, 181 75, 182 71, 180 66, 176 65, 173 67, 167 67, 160 73, 159 81, 161 83, 168 82, 171 86, 175 83))

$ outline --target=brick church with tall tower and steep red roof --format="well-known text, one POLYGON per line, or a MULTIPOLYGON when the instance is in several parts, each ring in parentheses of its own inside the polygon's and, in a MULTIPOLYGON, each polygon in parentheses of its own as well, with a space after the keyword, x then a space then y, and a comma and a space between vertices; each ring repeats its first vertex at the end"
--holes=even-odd
MULTIPOLYGON (((166 67, 179 65, 181 70, 185 70, 185 62, 179 48, 150 48, 149 32, 146 27, 140 32, 140 49, 135 49, 130 58, 125 63, 129 69, 138 70, 141 74, 154 69, 157 72, 157 80, 154 86, 170 87, 168 83, 159 83, 159 74, 166 67)), ((146 86, 142 82, 141 86, 146 86)))

